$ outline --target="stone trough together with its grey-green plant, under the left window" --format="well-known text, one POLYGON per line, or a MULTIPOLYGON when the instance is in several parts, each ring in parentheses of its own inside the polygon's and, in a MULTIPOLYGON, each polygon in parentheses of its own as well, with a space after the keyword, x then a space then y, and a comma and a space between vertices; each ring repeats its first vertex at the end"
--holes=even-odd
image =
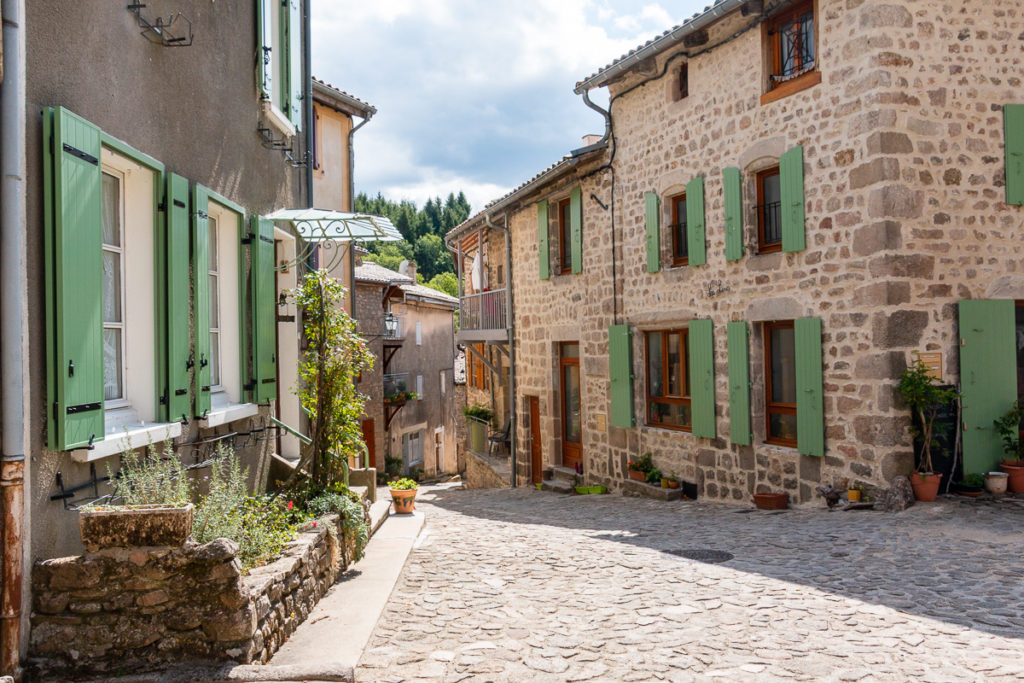
POLYGON ((184 544, 191 533, 190 489, 181 462, 170 441, 159 454, 152 444, 144 455, 121 454, 121 471, 114 475, 114 492, 106 504, 79 512, 82 545, 89 552, 101 548, 184 544))

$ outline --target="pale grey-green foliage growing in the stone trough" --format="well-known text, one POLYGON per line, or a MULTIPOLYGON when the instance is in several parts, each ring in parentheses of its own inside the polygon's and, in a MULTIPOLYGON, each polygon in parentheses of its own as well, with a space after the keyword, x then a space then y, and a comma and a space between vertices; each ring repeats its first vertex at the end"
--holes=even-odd
POLYGON ((121 471, 114 475, 108 465, 106 476, 113 482, 115 502, 119 505, 186 505, 189 502, 188 477, 170 440, 164 441, 163 454, 152 443, 144 454, 123 451, 121 471))

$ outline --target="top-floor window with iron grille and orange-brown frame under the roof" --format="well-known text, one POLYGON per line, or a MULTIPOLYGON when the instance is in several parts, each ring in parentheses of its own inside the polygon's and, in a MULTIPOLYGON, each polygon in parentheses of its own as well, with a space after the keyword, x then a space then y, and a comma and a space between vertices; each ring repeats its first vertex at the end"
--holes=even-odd
POLYGON ((803 0, 766 23, 768 93, 762 103, 821 82, 815 47, 814 3, 803 0))

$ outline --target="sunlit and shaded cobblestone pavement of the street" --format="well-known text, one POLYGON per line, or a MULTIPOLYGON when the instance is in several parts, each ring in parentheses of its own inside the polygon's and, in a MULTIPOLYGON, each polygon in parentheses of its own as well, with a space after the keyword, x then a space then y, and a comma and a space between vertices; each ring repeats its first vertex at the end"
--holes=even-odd
POLYGON ((1024 505, 421 489, 358 681, 1024 680, 1024 505), (734 557, 695 561, 672 551, 734 557))

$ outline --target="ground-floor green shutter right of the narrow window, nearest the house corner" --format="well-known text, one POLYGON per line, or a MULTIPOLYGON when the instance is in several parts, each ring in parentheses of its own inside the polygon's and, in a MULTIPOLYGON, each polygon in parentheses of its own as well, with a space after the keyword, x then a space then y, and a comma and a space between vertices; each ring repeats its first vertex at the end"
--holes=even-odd
POLYGON ((797 450, 825 455, 825 418, 821 375, 821 318, 794 321, 797 354, 797 450))

